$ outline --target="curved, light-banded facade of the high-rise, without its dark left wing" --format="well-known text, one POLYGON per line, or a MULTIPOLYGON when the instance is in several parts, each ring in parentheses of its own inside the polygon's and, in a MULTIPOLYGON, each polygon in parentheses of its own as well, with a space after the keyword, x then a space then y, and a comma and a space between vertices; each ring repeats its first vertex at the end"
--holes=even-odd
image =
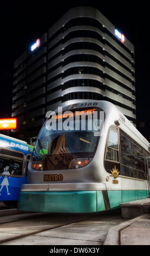
POLYGON ((122 42, 100 11, 86 7, 68 11, 48 34, 47 102, 108 100, 135 124, 131 42, 122 42))

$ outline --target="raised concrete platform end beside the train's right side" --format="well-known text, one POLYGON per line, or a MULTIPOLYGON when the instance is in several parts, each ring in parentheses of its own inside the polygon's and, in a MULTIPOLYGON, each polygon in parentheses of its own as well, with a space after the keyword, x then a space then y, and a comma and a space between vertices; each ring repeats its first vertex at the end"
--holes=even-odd
POLYGON ((120 204, 122 218, 131 220, 142 214, 150 214, 150 198, 120 204))

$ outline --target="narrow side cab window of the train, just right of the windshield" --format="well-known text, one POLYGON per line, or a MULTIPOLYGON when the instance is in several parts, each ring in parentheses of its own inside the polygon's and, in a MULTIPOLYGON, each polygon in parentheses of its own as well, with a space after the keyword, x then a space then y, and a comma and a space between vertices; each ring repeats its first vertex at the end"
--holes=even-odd
POLYGON ((119 162, 118 132, 109 130, 109 137, 106 150, 106 160, 119 162))

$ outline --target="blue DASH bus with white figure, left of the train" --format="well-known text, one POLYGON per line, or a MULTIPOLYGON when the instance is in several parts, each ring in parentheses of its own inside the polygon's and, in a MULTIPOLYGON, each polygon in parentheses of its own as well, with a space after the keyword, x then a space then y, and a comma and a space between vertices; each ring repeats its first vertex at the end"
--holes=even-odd
POLYGON ((28 181, 32 149, 27 142, 0 134, 0 201, 17 205, 22 184, 28 181))

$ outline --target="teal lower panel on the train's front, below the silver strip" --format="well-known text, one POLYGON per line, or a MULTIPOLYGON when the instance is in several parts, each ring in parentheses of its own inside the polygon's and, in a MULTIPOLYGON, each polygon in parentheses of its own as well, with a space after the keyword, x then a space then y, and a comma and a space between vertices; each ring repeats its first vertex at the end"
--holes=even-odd
POLYGON ((105 204, 102 191, 22 191, 19 194, 18 210, 35 212, 96 212, 105 211, 105 204))

